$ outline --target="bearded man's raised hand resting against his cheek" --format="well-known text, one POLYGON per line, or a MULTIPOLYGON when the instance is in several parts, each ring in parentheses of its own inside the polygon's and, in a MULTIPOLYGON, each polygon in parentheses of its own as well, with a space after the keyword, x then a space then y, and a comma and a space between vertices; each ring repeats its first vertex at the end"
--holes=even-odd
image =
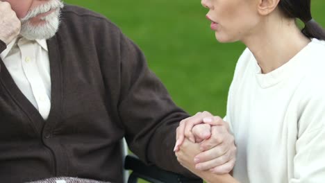
POLYGON ((20 32, 21 23, 10 3, 0 1, 0 40, 7 45, 20 32))

